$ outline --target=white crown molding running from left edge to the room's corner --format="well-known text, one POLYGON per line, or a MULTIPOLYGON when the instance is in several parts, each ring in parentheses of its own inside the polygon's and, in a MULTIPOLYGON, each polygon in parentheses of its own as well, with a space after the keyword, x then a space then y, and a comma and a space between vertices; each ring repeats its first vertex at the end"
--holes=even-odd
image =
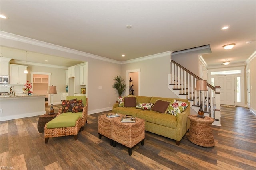
POLYGON ((51 44, 51 43, 46 43, 44 41, 38 41, 36 39, 23 37, 23 36, 20 36, 20 35, 15 35, 15 34, 4 32, 4 31, 0 31, 0 37, 5 38, 5 39, 10 39, 12 41, 19 41, 19 42, 22 42, 22 43, 36 45, 36 46, 39 46, 39 47, 45 47, 45 48, 54 49, 54 50, 57 50, 57 51, 64 51, 64 52, 67 52, 67 53, 81 55, 81 56, 84 56, 84 57, 90 57, 90 58, 97 59, 97 60, 103 60, 103 61, 108 61, 108 62, 111 62, 111 63, 121 64, 120 61, 108 59, 106 57, 101 57, 101 56, 98 56, 98 55, 85 53, 85 52, 70 49, 70 48, 67 48, 67 47, 62 47, 60 45, 54 45, 54 44, 51 44))

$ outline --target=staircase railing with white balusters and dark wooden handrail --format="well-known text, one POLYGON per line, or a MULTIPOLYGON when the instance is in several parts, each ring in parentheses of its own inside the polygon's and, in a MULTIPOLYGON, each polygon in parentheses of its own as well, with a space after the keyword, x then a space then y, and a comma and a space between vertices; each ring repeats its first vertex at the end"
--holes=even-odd
POLYGON ((214 118, 212 125, 221 126, 220 123, 220 87, 213 87, 207 83, 208 91, 202 91, 202 102, 200 92, 195 91, 196 80, 202 78, 196 76, 175 61, 171 61, 171 74, 168 74, 168 88, 182 99, 188 99, 191 108, 198 112, 200 104, 205 116, 214 118))

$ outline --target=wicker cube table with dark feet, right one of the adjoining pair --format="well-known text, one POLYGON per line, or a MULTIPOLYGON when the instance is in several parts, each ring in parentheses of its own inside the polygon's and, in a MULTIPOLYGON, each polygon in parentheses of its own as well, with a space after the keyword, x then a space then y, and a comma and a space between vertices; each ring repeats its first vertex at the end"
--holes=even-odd
POLYGON ((132 155, 132 147, 141 143, 144 145, 145 139, 145 121, 144 119, 136 118, 135 123, 121 122, 121 117, 114 119, 112 125, 112 140, 113 147, 116 147, 116 142, 128 147, 128 153, 132 155))

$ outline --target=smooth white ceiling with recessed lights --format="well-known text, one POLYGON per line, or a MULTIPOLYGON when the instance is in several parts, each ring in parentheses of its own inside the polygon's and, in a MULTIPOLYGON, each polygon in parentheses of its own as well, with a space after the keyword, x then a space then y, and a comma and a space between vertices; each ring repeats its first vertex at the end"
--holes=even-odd
POLYGON ((8 17, 1 31, 116 61, 209 44, 202 56, 213 66, 244 63, 256 51, 255 0, 1 0, 0 13, 8 17), (224 50, 228 43, 236 45, 224 50))

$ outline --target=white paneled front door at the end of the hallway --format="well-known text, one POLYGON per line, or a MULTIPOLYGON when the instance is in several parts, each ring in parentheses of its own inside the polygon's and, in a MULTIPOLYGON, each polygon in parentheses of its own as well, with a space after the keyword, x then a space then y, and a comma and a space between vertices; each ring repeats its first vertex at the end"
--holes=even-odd
POLYGON ((234 75, 216 76, 216 84, 220 86, 220 104, 235 105, 234 75))

